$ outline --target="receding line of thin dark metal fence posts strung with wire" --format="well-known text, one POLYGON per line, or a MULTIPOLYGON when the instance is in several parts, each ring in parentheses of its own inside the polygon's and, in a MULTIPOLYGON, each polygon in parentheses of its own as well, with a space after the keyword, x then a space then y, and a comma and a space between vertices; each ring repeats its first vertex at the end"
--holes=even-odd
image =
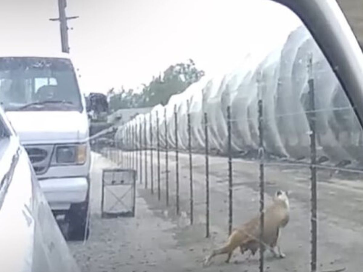
MULTIPOLYGON (((311 69, 311 59, 310 59, 310 68, 311 69)), ((289 161, 278 161, 278 160, 267 160, 265 157, 265 139, 264 139, 264 122, 266 119, 264 118, 264 101, 262 95, 258 96, 257 101, 257 110, 258 110, 258 154, 257 154, 257 165, 256 173, 258 172, 258 211, 260 214, 260 227, 261 234, 264 231, 264 212, 265 212, 265 193, 266 193, 266 179, 269 180, 269 169, 271 168, 305 168, 309 169, 309 180, 310 180, 310 271, 316 272, 318 269, 317 265, 317 246, 318 246, 318 201, 317 201, 317 181, 318 181, 318 171, 321 173, 326 172, 350 172, 350 173, 358 173, 362 174, 362 171, 359 169, 347 169, 345 167, 337 167, 337 166, 327 166, 323 165, 321 162, 317 161, 317 146, 316 146, 316 115, 315 115, 315 104, 314 104, 314 79, 311 74, 311 70, 309 70, 309 110, 304 114, 307 115, 310 126, 310 162, 289 162, 289 161)), ((261 93, 263 91, 263 86, 260 81, 258 84, 258 92, 261 93)), ((164 111, 164 116, 166 116, 166 110, 164 111)), ((226 158, 225 162, 225 172, 220 173, 221 176, 226 176, 226 184, 225 190, 226 195, 228 196, 227 209, 226 209, 226 217, 227 221, 225 222, 226 232, 229 234, 232 232, 232 227, 234 224, 234 194, 236 191, 240 190, 238 182, 234 181, 234 177, 238 174, 234 169, 234 162, 238 160, 238 164, 249 164, 253 167, 256 164, 256 160, 240 160, 236 154, 232 153, 232 124, 236 120, 232 120, 231 116, 231 107, 228 106, 225 109, 225 114, 227 116, 227 155, 224 156, 226 158)), ((216 154, 211 154, 211 149, 209 147, 209 135, 211 133, 209 129, 209 119, 208 114, 204 113, 203 126, 204 126, 204 198, 198 197, 199 201, 195 199, 195 168, 201 166, 200 164, 196 164, 193 162, 195 156, 200 157, 200 151, 196 152, 192 149, 192 137, 191 137, 191 114, 188 109, 187 114, 187 134, 188 134, 188 144, 187 148, 179 148, 179 135, 178 135, 178 123, 180 116, 178 116, 176 108, 174 108, 174 135, 169 133, 168 123, 164 122, 164 127, 159 123, 159 116, 156 113, 155 116, 150 115, 150 119, 146 118, 143 120, 142 124, 131 124, 125 126, 125 130, 123 133, 122 140, 115 141, 114 136, 117 131, 117 128, 110 128, 107 131, 103 131, 98 135, 91 137, 91 146, 93 151, 101 153, 103 156, 109 158, 115 164, 117 164, 120 168, 130 168, 135 169, 137 171, 139 188, 144 190, 150 190, 151 194, 157 191, 157 198, 159 201, 163 201, 167 207, 175 207, 175 213, 177 215, 180 214, 181 209, 186 207, 186 211, 189 216, 190 224, 196 223, 195 218, 195 209, 196 206, 204 205, 204 224, 205 224, 205 237, 209 237, 211 230, 211 220, 213 214, 211 213, 211 203, 213 203, 213 195, 211 195, 211 180, 210 174, 213 169, 211 169, 211 156, 215 157, 216 154), (153 122, 154 118, 156 119, 153 122), (162 128, 164 128, 164 140, 163 143, 160 140, 160 134, 162 133, 162 128), (149 132, 147 133, 147 130, 149 132), (147 134, 149 135, 149 139, 147 139, 147 134), (170 144, 170 141, 173 144, 170 144), (173 146, 171 148, 171 146, 173 146), (175 148, 174 148, 175 147, 175 148), (180 154, 185 155, 188 169, 183 167, 188 173, 188 182, 180 183, 181 176, 181 165, 180 165, 180 154), (155 181, 155 182, 154 182, 155 181), (174 181, 173 184, 170 182, 174 181), (155 189, 156 184, 156 189, 155 189), (142 187, 141 187, 141 186, 142 187), (171 186, 172 185, 172 186, 171 186), (171 187, 173 190, 171 190, 171 187), (181 207, 181 189, 183 190, 183 198, 185 195, 188 195, 187 205, 183 205, 181 207), (186 190, 185 190, 186 189, 186 190), (172 202, 171 202, 171 194, 172 202), (201 201, 200 201, 201 200, 201 201)), ((166 119, 166 118, 164 118, 166 119)), ((223 157, 223 156, 222 156, 223 157)), ((184 164, 185 165, 185 164, 184 164)), ((306 173, 306 172, 304 172, 306 173)), ((253 177, 254 179, 254 177, 253 177)), ((185 178, 183 178, 185 180, 185 178)), ((257 175, 256 175, 257 180, 257 175)), ((268 185, 269 186, 269 185, 268 185)), ((256 189, 256 188, 255 188, 256 189)), ((200 223, 200 222, 198 222, 200 223)), ((264 264, 264 251, 263 245, 260 244, 260 258, 259 258, 259 271, 265 271, 264 264)), ((339 271, 339 269, 337 270, 339 271)))

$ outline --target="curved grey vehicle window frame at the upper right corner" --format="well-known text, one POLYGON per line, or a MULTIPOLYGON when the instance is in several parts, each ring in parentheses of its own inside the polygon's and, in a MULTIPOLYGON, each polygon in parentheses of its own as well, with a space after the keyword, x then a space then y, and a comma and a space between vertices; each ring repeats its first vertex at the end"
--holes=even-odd
POLYGON ((338 3, 328 0, 269 1, 288 8, 309 30, 363 128, 363 53, 338 3))

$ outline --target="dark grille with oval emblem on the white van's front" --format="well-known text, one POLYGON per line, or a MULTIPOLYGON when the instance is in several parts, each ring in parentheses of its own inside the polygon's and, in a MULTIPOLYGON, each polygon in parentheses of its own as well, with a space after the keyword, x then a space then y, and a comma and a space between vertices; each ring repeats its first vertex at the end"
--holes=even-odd
POLYGON ((53 145, 26 145, 25 150, 37 175, 44 174, 48 171, 53 145))

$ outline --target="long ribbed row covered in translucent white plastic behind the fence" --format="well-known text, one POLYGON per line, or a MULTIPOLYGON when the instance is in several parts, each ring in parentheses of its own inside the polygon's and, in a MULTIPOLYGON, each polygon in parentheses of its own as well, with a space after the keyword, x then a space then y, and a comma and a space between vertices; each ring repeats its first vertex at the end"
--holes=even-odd
MULTIPOLYGON (((231 106, 232 151, 241 156, 256 156, 258 149, 259 90, 264 102, 264 144, 271 157, 301 160, 310 156, 309 109, 307 92, 309 56, 313 59, 315 109, 317 116, 318 157, 330 162, 363 162, 362 131, 333 70, 305 26, 291 31, 280 48, 252 51, 241 59, 238 69, 189 86, 173 95, 168 104, 156 106, 151 114, 156 133, 159 112, 160 146, 165 146, 165 122, 168 145, 175 148, 174 107, 178 113, 179 149, 188 148, 188 106, 191 115, 192 148, 204 149, 204 112, 208 115, 209 147, 226 154, 227 107, 231 106), (166 109, 166 119, 164 110, 166 109)), ((139 115, 120 127, 142 124, 147 120, 147 144, 150 146, 149 114, 139 115)), ((143 130, 142 129, 142 130, 143 130)), ((122 141, 122 133, 116 135, 122 141)), ((156 134, 154 134, 156 143, 156 134)), ((144 143, 144 139, 143 139, 144 143)), ((156 144, 154 143, 154 147, 156 144)))

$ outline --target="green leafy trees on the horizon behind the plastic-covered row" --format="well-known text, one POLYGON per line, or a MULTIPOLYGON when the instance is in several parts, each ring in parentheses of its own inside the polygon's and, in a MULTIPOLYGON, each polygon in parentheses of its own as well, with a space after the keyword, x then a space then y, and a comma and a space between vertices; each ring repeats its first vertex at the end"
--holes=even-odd
POLYGON ((149 85, 144 85, 141 93, 135 93, 130 89, 122 89, 115 93, 114 89, 109 90, 110 109, 116 111, 124 108, 153 107, 159 103, 165 105, 170 96, 179 94, 191 84, 200 80, 204 71, 198 70, 192 59, 187 63, 171 65, 163 73, 163 77, 154 77, 149 85))

